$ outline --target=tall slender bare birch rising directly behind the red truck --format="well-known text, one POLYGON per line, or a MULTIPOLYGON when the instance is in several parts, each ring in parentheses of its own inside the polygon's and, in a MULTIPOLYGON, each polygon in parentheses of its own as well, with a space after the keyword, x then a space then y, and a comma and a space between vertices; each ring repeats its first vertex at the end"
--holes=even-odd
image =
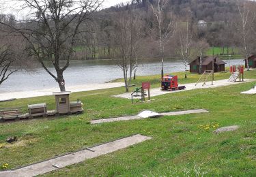
POLYGON ((158 43, 159 43, 159 50, 160 50, 160 57, 162 59, 162 69, 161 69, 161 76, 164 76, 164 50, 165 44, 167 41, 173 37, 173 33, 175 31, 175 23, 173 22, 173 18, 171 16, 167 27, 164 27, 164 8, 167 5, 169 0, 158 0, 156 7, 152 3, 150 3, 152 7, 152 12, 157 20, 157 27, 158 27, 158 43))

